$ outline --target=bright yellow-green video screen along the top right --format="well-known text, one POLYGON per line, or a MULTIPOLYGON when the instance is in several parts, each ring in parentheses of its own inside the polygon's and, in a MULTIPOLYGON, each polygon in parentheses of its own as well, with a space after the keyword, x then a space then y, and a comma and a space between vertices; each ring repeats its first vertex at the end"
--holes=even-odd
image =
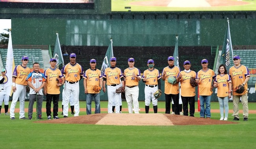
POLYGON ((256 0, 111 0, 111 11, 256 11, 256 0))

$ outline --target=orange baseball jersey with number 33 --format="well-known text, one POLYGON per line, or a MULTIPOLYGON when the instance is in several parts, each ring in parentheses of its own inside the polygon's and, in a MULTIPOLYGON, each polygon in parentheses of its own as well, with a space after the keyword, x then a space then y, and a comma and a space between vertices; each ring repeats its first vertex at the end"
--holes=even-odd
POLYGON ((136 67, 134 67, 132 69, 126 68, 124 70, 124 78, 125 78, 126 86, 139 85, 139 81, 137 80, 137 78, 132 76, 133 73, 141 78, 141 71, 139 69, 137 69, 136 67))

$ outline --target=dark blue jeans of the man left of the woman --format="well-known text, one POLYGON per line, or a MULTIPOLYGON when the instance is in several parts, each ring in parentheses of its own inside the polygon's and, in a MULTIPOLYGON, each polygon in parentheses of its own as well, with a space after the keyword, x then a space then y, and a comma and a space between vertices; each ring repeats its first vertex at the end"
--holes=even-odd
POLYGON ((211 117, 211 95, 199 96, 200 98, 200 117, 211 117), (205 104, 205 107, 204 107, 205 104))

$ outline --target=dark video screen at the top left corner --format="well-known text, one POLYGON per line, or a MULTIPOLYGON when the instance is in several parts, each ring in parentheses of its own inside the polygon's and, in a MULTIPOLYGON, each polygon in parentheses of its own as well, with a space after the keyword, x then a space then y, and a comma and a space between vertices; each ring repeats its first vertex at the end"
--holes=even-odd
POLYGON ((94 9, 95 0, 0 0, 0 8, 94 9))

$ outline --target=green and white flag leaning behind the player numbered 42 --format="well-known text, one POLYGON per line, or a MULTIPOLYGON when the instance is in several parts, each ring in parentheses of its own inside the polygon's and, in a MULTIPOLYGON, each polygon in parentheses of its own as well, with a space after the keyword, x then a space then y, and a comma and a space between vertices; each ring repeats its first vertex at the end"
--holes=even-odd
POLYGON ((113 57, 113 40, 112 38, 110 38, 110 43, 108 45, 108 50, 106 52, 106 55, 104 57, 104 60, 103 60, 103 63, 102 63, 102 66, 101 66, 101 74, 104 75, 104 72, 105 72, 105 69, 108 68, 109 66, 109 60, 111 57, 113 57))

